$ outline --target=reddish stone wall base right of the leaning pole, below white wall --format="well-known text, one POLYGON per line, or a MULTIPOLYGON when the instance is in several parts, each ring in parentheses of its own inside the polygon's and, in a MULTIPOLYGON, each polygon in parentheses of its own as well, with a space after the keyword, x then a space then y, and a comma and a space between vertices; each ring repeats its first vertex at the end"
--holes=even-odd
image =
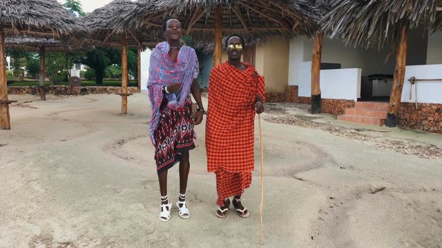
POLYGON ((442 134, 442 104, 401 103, 398 117, 402 127, 442 134))

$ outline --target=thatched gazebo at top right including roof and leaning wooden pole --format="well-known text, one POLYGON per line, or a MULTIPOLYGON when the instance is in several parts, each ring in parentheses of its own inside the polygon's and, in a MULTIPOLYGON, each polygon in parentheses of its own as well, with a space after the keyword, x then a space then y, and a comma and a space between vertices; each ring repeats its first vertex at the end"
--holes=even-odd
POLYGON ((329 12, 321 21, 326 34, 354 45, 370 48, 398 43, 390 107, 385 125, 396 126, 401 104, 407 59, 408 30, 420 25, 442 29, 442 0, 329 1, 329 12))

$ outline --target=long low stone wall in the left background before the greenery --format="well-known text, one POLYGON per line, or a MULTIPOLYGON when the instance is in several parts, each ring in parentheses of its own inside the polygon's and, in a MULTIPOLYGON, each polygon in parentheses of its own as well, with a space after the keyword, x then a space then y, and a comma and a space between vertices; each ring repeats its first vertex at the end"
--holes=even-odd
MULTIPOLYGON (((81 95, 81 94, 117 94, 121 87, 113 86, 84 86, 70 87, 69 85, 45 86, 46 94, 55 95, 81 95)), ((137 92, 137 87, 127 87, 128 93, 137 92)), ((8 87, 8 94, 39 94, 39 86, 13 86, 8 87)))

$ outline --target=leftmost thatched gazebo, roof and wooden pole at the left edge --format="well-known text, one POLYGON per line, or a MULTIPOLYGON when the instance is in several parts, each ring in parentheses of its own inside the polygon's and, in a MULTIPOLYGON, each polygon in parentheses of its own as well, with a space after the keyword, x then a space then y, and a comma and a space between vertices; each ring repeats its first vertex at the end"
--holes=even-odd
POLYGON ((6 85, 5 33, 46 37, 81 37, 86 26, 56 0, 1 0, 0 3, 0 130, 10 129, 6 85))

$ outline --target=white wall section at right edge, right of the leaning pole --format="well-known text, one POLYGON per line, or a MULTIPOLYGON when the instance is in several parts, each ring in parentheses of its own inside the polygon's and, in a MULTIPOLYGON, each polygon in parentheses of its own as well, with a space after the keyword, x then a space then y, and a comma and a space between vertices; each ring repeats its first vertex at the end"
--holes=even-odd
POLYGON ((401 101, 405 103, 442 103, 442 81, 419 81, 412 85, 408 81, 412 76, 416 79, 442 79, 441 65, 408 65, 405 70, 401 101), (411 97, 410 97, 411 92, 411 97))

